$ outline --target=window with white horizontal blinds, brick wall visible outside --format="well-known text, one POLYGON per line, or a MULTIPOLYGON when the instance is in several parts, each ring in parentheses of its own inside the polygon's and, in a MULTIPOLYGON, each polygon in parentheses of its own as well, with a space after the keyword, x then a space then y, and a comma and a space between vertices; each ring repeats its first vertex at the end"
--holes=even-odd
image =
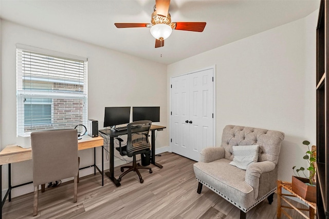
POLYGON ((87 59, 16 45, 17 135, 87 125, 87 59))

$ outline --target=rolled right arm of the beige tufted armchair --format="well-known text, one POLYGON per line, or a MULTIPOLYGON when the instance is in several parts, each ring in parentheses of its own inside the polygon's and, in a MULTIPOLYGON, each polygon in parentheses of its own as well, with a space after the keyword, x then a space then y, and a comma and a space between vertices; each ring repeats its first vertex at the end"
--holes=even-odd
MULTIPOLYGON (((262 161, 251 163, 246 170, 245 182, 253 188, 254 198, 258 197, 259 178, 263 173, 268 173, 276 168, 275 163, 271 161, 262 161)), ((274 179, 275 181, 277 179, 274 179)))

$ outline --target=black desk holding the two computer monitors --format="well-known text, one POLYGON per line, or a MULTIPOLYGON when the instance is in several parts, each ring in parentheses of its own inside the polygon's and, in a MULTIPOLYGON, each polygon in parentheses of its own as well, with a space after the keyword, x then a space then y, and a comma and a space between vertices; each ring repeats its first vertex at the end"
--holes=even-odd
MULTIPOLYGON (((155 162, 155 131, 161 131, 166 129, 166 126, 160 125, 151 125, 151 163, 158 168, 162 168, 159 163, 155 162)), ((114 184, 118 187, 121 186, 120 182, 114 177, 114 138, 120 135, 126 135, 127 130, 122 131, 115 131, 112 129, 104 129, 99 130, 100 133, 104 134, 105 136, 109 137, 109 172, 105 173, 108 178, 110 178, 114 184)))

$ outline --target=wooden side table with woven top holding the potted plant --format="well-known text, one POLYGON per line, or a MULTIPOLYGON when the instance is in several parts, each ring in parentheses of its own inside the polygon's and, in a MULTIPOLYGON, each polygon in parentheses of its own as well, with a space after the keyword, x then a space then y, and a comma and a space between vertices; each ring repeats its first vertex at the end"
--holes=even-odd
POLYGON ((281 212, 284 213, 288 218, 290 218, 290 219, 293 218, 284 210, 284 208, 295 209, 303 217, 308 218, 308 219, 314 219, 314 216, 316 215, 316 210, 317 210, 316 203, 308 202, 307 200, 305 200, 304 198, 302 198, 301 196, 299 196, 295 192, 293 192, 293 189, 291 188, 291 182, 285 182, 285 181, 278 180, 277 193, 278 193, 278 209, 277 209, 278 219, 281 218, 281 212), (291 194, 282 194, 282 188, 287 190, 291 194), (298 197, 305 204, 307 204, 309 206, 309 208, 297 208, 293 204, 290 203, 289 198, 286 198, 284 196, 298 197), (283 206, 281 204, 281 199, 284 200, 284 202, 287 203, 289 206, 283 206), (302 211, 308 211, 309 217, 307 217, 302 211))

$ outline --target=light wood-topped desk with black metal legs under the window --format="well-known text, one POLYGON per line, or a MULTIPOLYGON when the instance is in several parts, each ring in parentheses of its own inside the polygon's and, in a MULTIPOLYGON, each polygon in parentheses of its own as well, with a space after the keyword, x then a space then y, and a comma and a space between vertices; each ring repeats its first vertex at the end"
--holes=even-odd
MULTIPOLYGON (((79 170, 94 167, 94 174, 96 174, 96 169, 102 175, 102 186, 104 185, 104 162, 103 162, 103 138, 98 136, 92 138, 88 135, 82 136, 82 139, 78 140, 78 150, 85 150, 94 148, 94 165, 90 165, 88 167, 80 168, 79 170), (100 170, 96 166, 96 147, 102 147, 102 170, 100 170)), ((31 184, 32 181, 26 182, 25 184, 11 186, 11 163, 20 162, 24 160, 32 159, 32 149, 31 148, 21 148, 17 145, 8 145, 4 150, 0 152, 0 197, 2 197, 2 166, 8 164, 8 190, 1 202, 1 209, 0 209, 0 218, 2 218, 2 207, 6 202, 6 198, 9 195, 9 202, 11 201, 11 189, 16 187, 25 186, 27 184, 31 184)))

